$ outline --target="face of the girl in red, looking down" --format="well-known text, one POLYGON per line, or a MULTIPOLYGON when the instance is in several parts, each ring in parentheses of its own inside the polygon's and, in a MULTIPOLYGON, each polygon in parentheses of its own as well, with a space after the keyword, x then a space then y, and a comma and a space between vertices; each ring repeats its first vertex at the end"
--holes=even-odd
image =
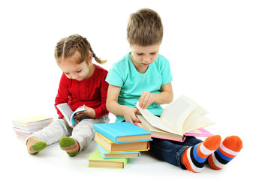
MULTIPOLYGON (((89 57, 90 57, 89 53, 89 57)), ((68 58, 59 59, 59 68, 69 79, 73 80, 86 80, 93 74, 92 58, 89 58, 89 64, 82 62, 77 64, 80 59, 80 53, 76 52, 74 55, 68 58)))

